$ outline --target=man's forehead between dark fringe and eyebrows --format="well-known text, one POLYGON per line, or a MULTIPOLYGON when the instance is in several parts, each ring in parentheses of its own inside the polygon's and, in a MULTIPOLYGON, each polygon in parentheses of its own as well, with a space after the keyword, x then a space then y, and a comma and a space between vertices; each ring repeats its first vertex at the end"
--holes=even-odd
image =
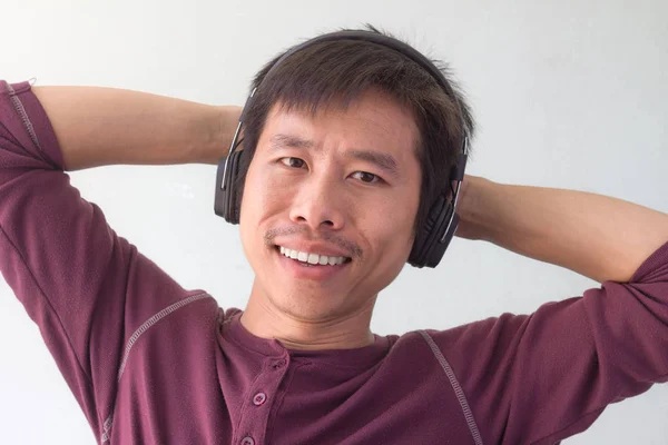
POLYGON ((347 106, 337 101, 321 103, 316 111, 311 105, 286 106, 279 101, 267 115, 259 146, 267 146, 276 135, 313 142, 302 148, 364 147, 391 151, 400 158, 414 157, 420 140, 412 111, 379 91, 367 91, 347 106))

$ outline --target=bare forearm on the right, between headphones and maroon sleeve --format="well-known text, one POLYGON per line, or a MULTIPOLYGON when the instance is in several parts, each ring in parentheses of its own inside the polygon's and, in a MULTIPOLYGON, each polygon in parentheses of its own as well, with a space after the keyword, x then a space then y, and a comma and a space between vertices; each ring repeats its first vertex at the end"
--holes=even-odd
POLYGON ((668 241, 668 215, 637 204, 473 176, 464 181, 459 236, 483 239, 599 283, 627 283, 668 241))

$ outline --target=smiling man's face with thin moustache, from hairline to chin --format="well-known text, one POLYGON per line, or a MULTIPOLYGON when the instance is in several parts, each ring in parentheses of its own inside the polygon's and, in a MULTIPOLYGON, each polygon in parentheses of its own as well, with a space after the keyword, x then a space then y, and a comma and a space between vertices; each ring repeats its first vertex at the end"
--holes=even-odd
POLYGON ((242 202, 250 298, 311 322, 373 306, 413 243, 418 138, 412 115, 380 92, 315 117, 275 106, 242 202))

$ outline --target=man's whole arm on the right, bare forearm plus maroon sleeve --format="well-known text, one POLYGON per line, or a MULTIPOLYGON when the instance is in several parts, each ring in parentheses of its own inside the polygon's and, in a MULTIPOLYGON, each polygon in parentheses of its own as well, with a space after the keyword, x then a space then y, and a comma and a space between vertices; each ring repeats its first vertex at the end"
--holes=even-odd
POLYGON ((464 184, 458 236, 601 283, 530 315, 432 334, 485 443, 559 443, 668 380, 666 214, 582 191, 464 184))

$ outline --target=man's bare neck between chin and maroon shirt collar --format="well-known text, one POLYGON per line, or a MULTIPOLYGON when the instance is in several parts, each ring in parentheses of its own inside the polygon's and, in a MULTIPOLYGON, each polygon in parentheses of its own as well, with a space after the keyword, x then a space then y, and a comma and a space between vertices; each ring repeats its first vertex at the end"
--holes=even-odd
POLYGON ((279 310, 254 286, 240 322, 256 337, 275 338, 293 350, 353 349, 374 343, 370 325, 375 299, 350 315, 310 322, 279 310))

